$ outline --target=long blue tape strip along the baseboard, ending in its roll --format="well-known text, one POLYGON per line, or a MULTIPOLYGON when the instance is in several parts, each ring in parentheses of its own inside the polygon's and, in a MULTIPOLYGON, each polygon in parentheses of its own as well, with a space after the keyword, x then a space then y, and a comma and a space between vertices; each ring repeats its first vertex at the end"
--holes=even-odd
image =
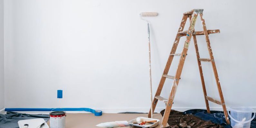
MULTIPOLYGON (((5 111, 52 111, 54 108, 5 108, 5 111)), ((86 111, 91 112, 95 116, 101 116, 102 111, 91 108, 55 108, 54 111, 86 111)))

